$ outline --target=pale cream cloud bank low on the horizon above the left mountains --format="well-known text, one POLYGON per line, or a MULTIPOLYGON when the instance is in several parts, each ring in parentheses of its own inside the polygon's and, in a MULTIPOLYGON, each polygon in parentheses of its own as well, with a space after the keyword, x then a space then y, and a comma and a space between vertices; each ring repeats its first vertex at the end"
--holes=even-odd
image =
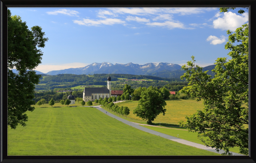
POLYGON ((79 68, 79 67, 85 67, 89 65, 88 63, 65 63, 65 64, 59 64, 59 65, 54 65, 54 64, 39 64, 35 70, 41 71, 43 73, 47 73, 49 71, 53 70, 64 70, 64 69, 69 69, 69 68, 79 68))

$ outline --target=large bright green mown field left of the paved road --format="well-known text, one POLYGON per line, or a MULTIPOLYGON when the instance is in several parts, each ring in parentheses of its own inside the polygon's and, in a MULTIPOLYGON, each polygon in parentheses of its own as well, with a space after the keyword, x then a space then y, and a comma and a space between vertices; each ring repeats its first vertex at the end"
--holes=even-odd
POLYGON ((8 155, 219 155, 128 126, 92 107, 56 103, 8 128, 8 155))

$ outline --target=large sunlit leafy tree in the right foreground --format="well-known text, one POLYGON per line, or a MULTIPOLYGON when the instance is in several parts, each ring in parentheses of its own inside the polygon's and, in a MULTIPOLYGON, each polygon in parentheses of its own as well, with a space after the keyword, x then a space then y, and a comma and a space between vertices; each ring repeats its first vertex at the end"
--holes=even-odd
MULTIPOLYGON (((227 11, 223 8, 221 11, 227 11)), ((241 12, 241 11, 240 11, 241 12)), ((227 31, 229 37, 225 49, 231 50, 232 58, 218 58, 213 78, 203 72, 192 61, 182 66, 189 86, 182 92, 197 100, 203 100, 204 109, 186 117, 180 125, 189 131, 198 132, 198 138, 205 145, 223 149, 230 154, 229 148, 239 147, 242 154, 248 154, 248 25, 227 31), (209 137, 207 140, 204 137, 209 137)))

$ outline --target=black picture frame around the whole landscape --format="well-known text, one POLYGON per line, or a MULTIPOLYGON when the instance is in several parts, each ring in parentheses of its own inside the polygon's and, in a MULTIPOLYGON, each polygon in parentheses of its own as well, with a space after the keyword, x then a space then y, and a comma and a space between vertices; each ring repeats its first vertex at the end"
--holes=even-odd
POLYGON ((1 0, 0 2, 0 161, 256 163, 256 0, 1 0), (8 156, 7 155, 7 7, 249 7, 249 155, 248 156, 8 156))

